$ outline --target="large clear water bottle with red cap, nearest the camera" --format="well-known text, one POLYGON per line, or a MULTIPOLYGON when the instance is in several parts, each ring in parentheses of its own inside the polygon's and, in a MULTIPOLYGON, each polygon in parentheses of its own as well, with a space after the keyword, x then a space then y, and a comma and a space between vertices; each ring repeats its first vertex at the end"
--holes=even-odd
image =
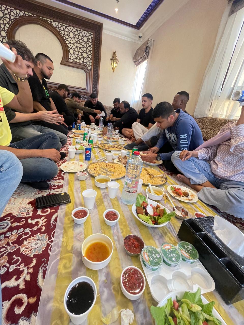
POLYGON ((136 201, 137 188, 142 173, 143 162, 139 151, 127 160, 126 175, 121 200, 125 204, 133 204, 136 201))

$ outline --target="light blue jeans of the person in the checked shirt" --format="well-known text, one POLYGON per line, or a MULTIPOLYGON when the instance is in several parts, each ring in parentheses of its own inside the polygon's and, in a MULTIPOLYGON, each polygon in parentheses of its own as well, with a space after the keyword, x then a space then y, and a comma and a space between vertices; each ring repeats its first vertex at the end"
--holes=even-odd
POLYGON ((211 170, 211 166, 205 160, 199 160, 191 157, 182 161, 181 151, 175 151, 171 160, 175 167, 186 177, 190 179, 191 184, 202 184, 209 181, 216 188, 202 188, 198 197, 203 202, 216 206, 220 211, 235 215, 238 218, 244 218, 244 183, 229 181, 227 179, 217 178, 211 170))

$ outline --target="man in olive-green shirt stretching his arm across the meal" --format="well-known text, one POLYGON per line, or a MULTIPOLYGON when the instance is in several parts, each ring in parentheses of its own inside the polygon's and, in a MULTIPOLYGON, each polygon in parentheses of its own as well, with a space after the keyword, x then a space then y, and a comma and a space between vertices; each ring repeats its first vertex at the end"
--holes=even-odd
MULTIPOLYGON (((82 121, 82 112, 87 113, 96 113, 101 114, 101 110, 95 110, 93 108, 88 108, 85 106, 82 106, 80 104, 81 102, 81 95, 78 93, 73 93, 71 98, 65 98, 65 103, 67 105, 68 110, 70 110, 71 113, 74 114, 74 116, 78 119, 78 121, 82 121)), ((77 123, 79 123, 77 121, 77 123)))

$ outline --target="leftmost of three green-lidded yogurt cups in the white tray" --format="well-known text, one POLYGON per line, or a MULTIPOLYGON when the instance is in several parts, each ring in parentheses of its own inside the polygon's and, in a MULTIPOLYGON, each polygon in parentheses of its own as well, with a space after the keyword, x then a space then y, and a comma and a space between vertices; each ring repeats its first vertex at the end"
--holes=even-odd
POLYGON ((142 263, 151 271, 156 271, 163 263, 163 258, 158 249, 153 246, 142 248, 142 263))

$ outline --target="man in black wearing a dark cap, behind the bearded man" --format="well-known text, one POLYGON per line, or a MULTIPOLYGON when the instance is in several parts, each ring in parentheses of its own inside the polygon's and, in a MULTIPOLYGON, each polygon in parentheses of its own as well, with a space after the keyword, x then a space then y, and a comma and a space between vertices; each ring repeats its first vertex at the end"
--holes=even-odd
POLYGON ((64 122, 67 125, 71 125, 73 122, 80 123, 80 121, 77 121, 74 114, 68 109, 64 100, 68 97, 69 94, 69 88, 64 84, 60 84, 58 86, 58 89, 56 91, 51 92, 50 94, 50 98, 53 100, 57 111, 59 112, 59 114, 63 115, 64 122))

